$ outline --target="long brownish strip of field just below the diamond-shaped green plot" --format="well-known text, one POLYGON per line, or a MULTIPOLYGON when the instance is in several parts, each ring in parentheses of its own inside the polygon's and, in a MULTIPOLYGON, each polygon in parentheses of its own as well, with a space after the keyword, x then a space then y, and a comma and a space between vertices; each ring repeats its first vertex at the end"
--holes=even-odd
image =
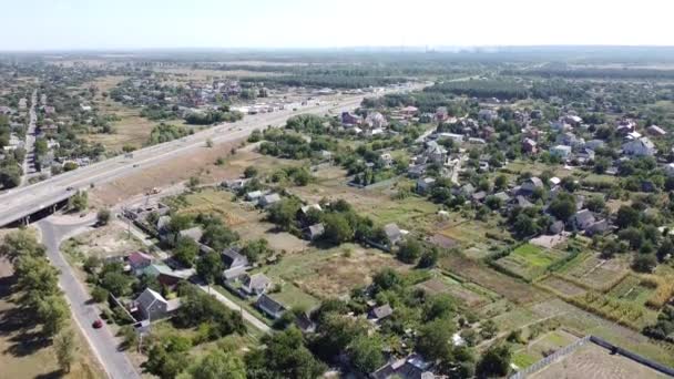
POLYGON ((471 259, 452 254, 440 260, 440 267, 468 280, 489 288, 517 304, 541 300, 547 296, 532 286, 518 281, 504 274, 494 272, 471 259))

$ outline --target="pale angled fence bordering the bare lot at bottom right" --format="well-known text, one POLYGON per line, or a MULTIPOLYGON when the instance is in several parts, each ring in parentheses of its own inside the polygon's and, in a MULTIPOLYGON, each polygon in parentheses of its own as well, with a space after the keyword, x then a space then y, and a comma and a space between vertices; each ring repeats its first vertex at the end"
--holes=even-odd
POLYGON ((581 346, 591 342, 591 344, 595 344, 598 346, 603 347, 604 349, 611 350, 611 354, 616 354, 616 355, 621 355, 627 359, 632 359, 641 365, 647 366, 658 372, 662 372, 664 375, 667 375, 670 377, 674 377, 674 369, 666 367, 664 365, 661 365, 658 362, 654 362, 650 359, 646 359, 642 356, 639 356, 632 351, 627 351, 619 346, 615 346, 602 338, 599 337, 594 337, 594 336, 585 336, 581 339, 579 339, 578 341, 561 348, 559 350, 556 350, 554 354, 539 360, 538 362, 529 366, 525 369, 522 369, 520 371, 518 371, 517 373, 510 376, 509 379, 524 379, 527 378, 527 376, 529 376, 530 373, 537 372, 541 369, 543 369, 544 367, 547 367, 548 365, 553 363, 555 360, 573 352, 574 350, 576 350, 578 348, 580 348, 581 346))

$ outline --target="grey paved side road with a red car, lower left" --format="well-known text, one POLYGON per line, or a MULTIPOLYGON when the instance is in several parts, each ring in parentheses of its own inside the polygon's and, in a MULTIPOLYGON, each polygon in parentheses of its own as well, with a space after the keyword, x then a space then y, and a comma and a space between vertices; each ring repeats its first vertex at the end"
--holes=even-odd
POLYGON ((51 218, 44 218, 37 225, 42 231, 42 243, 47 246, 47 256, 52 265, 61 272, 59 285, 70 303, 74 320, 82 329, 108 376, 113 379, 140 379, 140 375, 135 371, 126 355, 118 350, 119 341, 110 329, 106 326, 101 329, 91 327, 91 324, 99 318, 100 311, 95 305, 89 303, 89 294, 59 250, 61 240, 92 225, 95 222, 92 218, 69 225, 54 224, 51 218))

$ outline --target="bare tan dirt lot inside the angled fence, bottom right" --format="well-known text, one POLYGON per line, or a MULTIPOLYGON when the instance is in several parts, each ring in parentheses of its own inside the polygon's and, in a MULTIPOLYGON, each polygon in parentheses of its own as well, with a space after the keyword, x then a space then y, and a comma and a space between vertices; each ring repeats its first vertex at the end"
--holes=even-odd
POLYGON ((531 375, 530 378, 651 379, 668 377, 623 356, 612 355, 611 351, 598 345, 588 344, 543 370, 531 375))

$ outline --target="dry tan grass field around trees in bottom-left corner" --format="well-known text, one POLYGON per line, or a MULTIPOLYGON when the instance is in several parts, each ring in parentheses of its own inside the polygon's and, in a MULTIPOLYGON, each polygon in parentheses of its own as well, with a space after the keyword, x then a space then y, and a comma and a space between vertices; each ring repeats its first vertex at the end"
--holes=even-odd
POLYGON ((11 301, 16 296, 11 290, 13 281, 10 264, 0 260, 0 378, 103 378, 102 368, 74 322, 70 322, 70 328, 78 346, 75 363, 70 373, 61 372, 51 342, 40 337, 39 328, 11 301))

